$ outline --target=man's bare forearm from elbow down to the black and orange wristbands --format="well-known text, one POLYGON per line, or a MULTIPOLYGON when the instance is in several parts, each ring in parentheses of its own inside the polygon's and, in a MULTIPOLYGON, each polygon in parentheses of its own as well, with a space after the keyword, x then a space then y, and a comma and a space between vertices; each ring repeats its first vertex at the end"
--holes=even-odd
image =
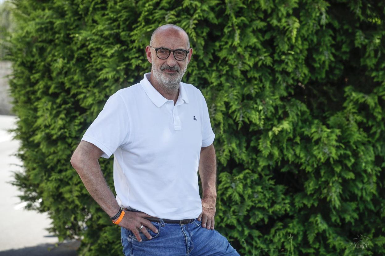
POLYGON ((119 211, 114 194, 105 182, 103 173, 100 169, 98 160, 84 159, 81 163, 73 164, 82 179, 85 188, 92 198, 110 216, 114 216, 119 211))

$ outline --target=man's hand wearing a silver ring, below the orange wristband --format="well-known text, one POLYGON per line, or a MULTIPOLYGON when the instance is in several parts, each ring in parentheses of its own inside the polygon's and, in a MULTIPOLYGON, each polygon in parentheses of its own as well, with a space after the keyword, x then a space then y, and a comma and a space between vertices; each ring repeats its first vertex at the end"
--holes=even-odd
POLYGON ((139 230, 137 228, 140 228, 142 225, 144 226, 140 232, 142 232, 148 239, 152 239, 150 233, 148 233, 147 228, 154 231, 154 233, 158 233, 158 229, 155 228, 154 225, 152 225, 151 221, 148 219, 144 219, 147 217, 152 217, 144 212, 131 212, 131 211, 124 211, 124 216, 122 221, 119 223, 119 226, 129 229, 134 233, 136 239, 141 242, 142 238, 139 233, 139 230))

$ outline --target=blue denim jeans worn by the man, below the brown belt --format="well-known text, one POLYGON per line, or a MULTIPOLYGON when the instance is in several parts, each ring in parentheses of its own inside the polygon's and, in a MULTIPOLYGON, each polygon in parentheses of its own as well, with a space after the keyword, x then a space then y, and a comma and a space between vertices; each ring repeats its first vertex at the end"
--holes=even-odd
POLYGON ((125 256, 239 256, 224 236, 216 230, 202 228, 198 219, 182 225, 164 223, 162 219, 151 223, 158 233, 146 227, 152 239, 140 232, 142 242, 137 241, 131 230, 121 228, 125 256))

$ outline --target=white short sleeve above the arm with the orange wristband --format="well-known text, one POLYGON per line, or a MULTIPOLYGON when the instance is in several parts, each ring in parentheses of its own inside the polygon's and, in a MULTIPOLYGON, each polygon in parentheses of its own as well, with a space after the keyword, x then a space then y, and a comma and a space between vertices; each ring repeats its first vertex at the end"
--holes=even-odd
POLYGON ((119 94, 112 95, 105 103, 102 111, 85 132, 82 141, 99 147, 109 158, 116 149, 127 142, 129 135, 129 119, 126 105, 119 94))

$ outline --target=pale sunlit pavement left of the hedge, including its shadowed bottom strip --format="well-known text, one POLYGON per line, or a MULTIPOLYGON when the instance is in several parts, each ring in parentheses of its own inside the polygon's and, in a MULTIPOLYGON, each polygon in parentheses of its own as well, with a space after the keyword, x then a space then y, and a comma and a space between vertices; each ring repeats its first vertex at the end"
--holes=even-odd
POLYGON ((17 117, 0 115, 0 256, 75 256, 80 242, 59 243, 46 228, 50 219, 45 213, 27 211, 17 195, 21 192, 9 182, 13 172, 22 171, 15 156, 19 143, 8 129, 15 127, 17 117))

